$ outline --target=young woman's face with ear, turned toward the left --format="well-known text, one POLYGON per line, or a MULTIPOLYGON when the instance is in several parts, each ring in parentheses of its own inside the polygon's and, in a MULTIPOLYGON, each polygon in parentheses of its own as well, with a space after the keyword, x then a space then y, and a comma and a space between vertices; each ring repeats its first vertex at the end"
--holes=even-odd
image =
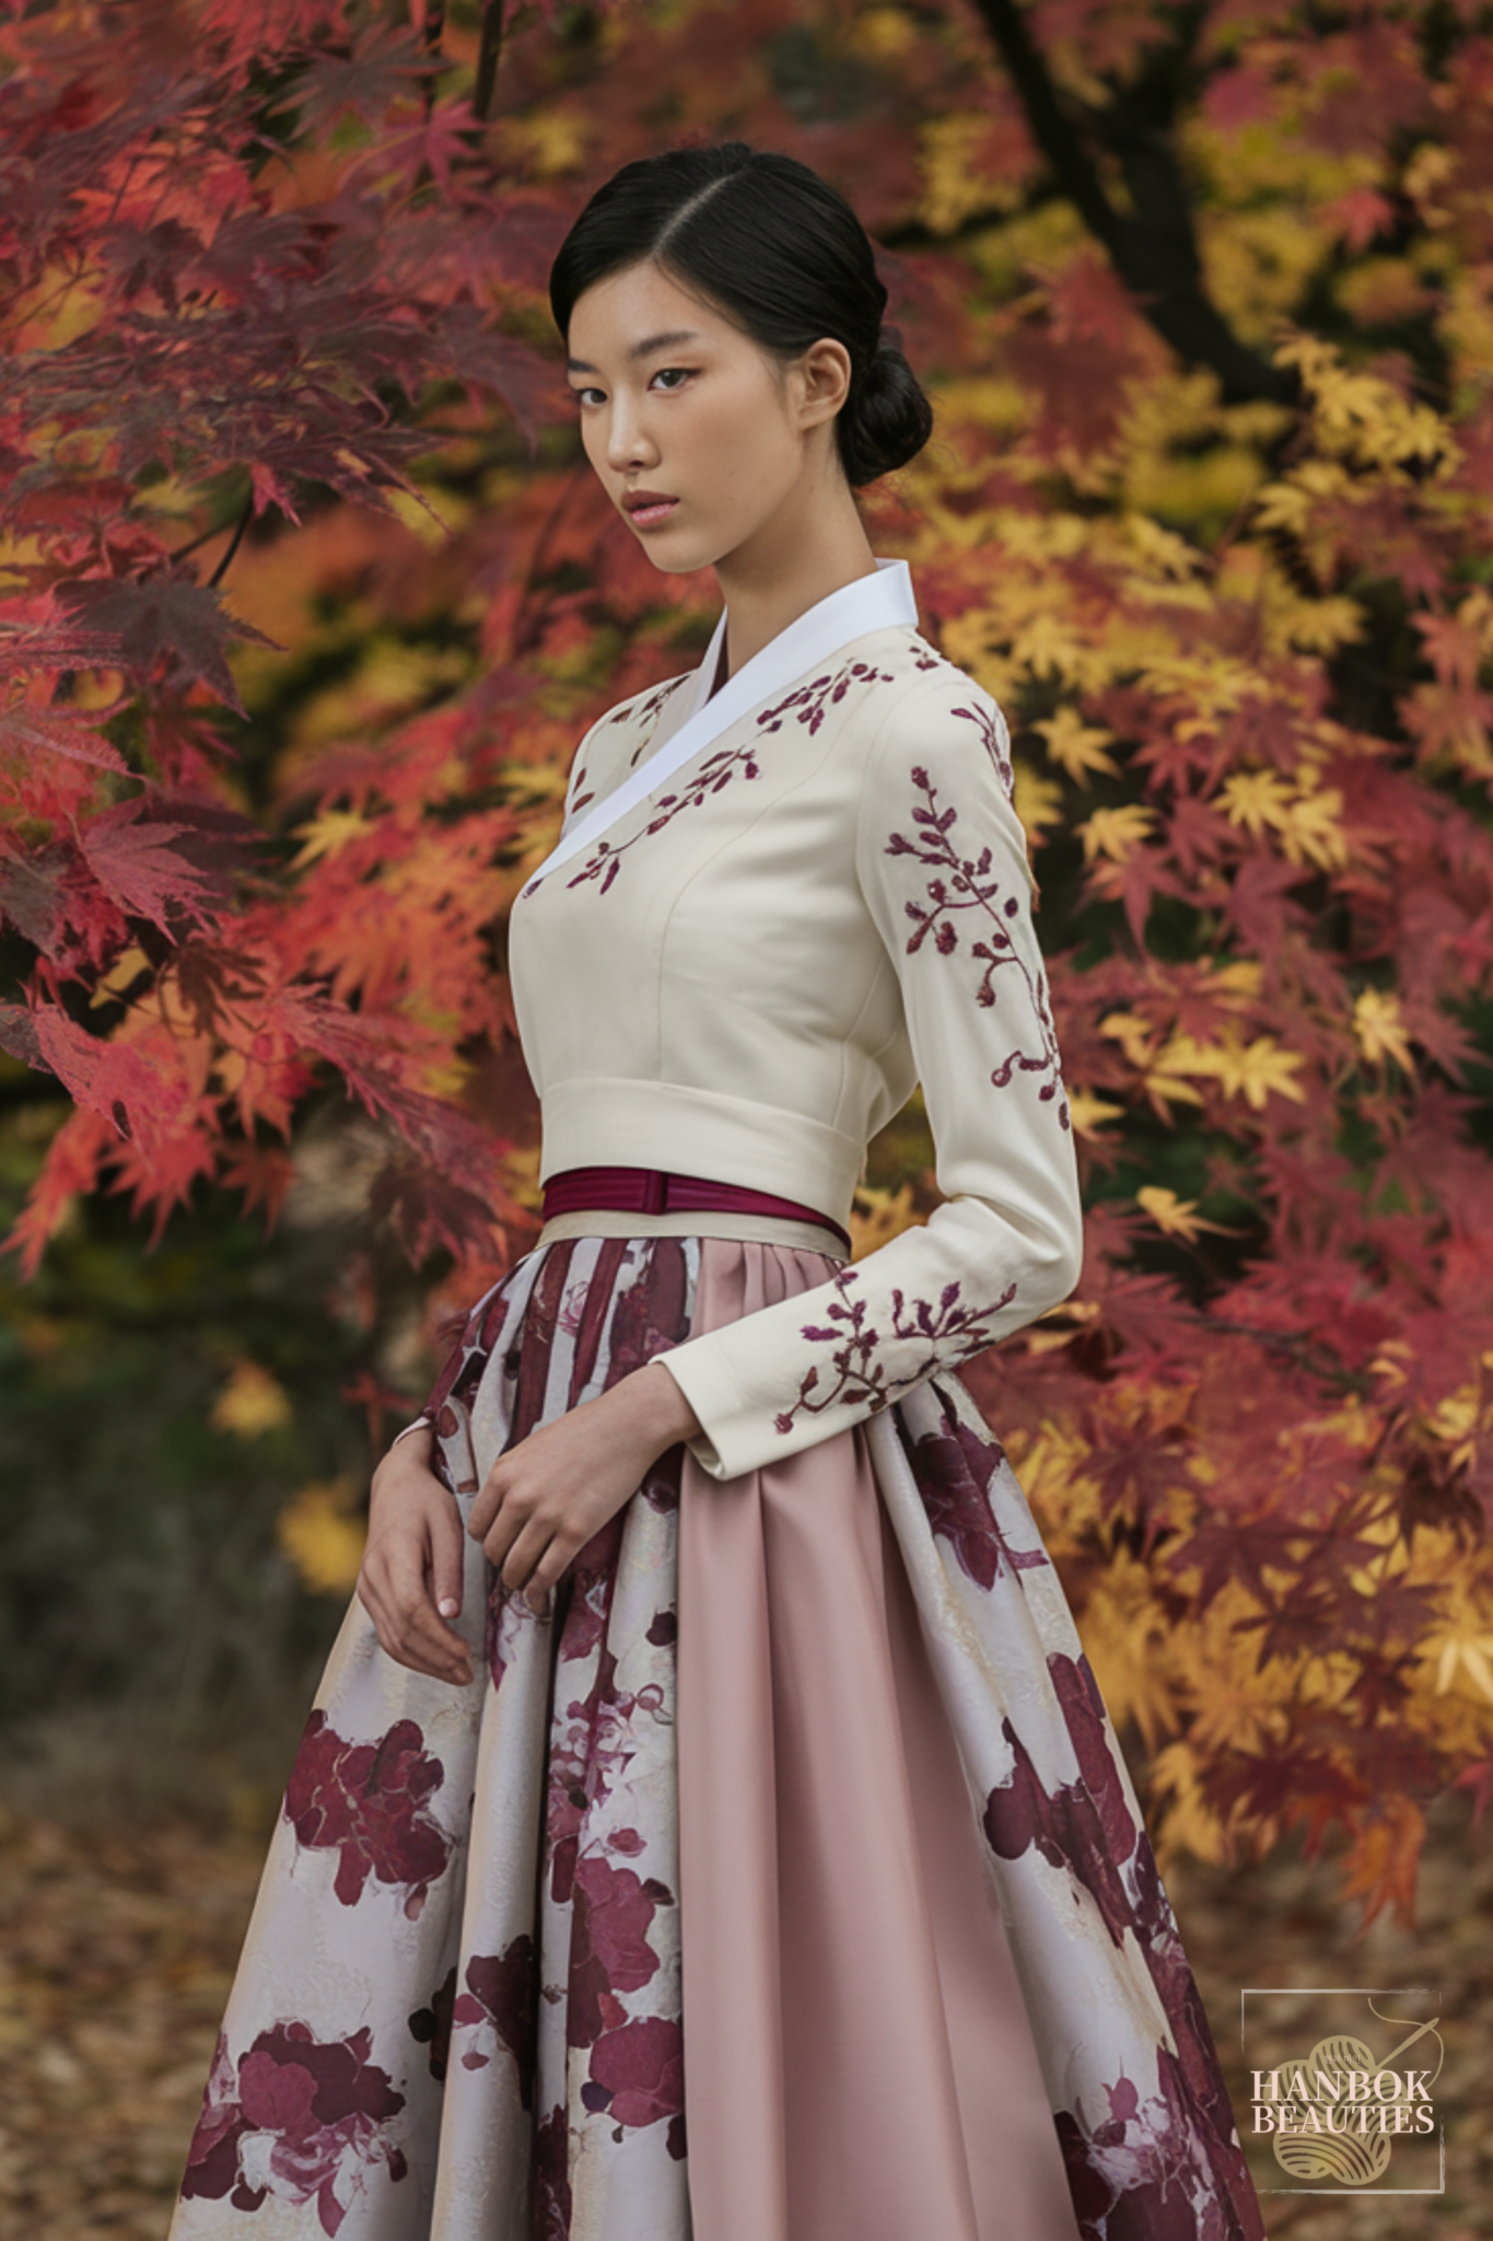
POLYGON ((714 567, 835 459, 848 385, 839 343, 781 365, 656 264, 589 287, 571 314, 569 379, 591 466, 654 567, 714 567))

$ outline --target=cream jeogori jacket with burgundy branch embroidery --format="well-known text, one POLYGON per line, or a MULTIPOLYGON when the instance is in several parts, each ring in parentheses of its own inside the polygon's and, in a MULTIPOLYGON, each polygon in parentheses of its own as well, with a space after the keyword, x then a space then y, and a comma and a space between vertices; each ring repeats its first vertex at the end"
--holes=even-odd
MULTIPOLYGON (((931 1221, 665 1356, 719 1479, 1018 1331, 1072 1291, 1081 1262, 1005 722, 911 623, 884 621, 884 578, 835 598, 837 648, 808 672, 772 659, 781 641, 766 648, 754 706, 613 822, 600 805, 651 753, 667 762, 685 699, 698 731, 714 650, 602 717, 575 757, 566 827, 604 829, 557 852, 513 912, 542 1177, 663 1168, 844 1224, 868 1138, 922 1082, 945 1194, 931 1221)), ((602 1224, 566 1217, 578 1226, 602 1224)))

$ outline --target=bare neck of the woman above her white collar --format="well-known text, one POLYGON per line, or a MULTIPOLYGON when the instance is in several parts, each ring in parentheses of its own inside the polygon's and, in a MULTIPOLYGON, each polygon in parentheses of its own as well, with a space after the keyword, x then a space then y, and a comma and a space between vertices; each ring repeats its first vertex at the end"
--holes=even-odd
POLYGON ((875 558, 844 475, 804 475, 792 500, 716 562, 730 612, 725 675, 734 677, 830 592, 871 574, 875 558))

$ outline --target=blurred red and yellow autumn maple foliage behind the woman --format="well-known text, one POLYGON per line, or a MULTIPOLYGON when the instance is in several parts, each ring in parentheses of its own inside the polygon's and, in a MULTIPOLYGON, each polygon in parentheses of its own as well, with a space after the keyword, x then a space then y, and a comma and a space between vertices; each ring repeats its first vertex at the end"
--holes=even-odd
MULTIPOLYGON (((372 1463, 537 1230, 506 908, 714 621, 544 276, 743 137, 936 399, 866 513, 1012 724, 1088 1206, 971 1385, 1242 2120, 1245 1983, 1446 1988, 1446 2192, 1269 2232, 1493 2232, 1491 125, 1475 0, 0 9, 0 2230, 163 2232, 372 1463)), ((931 1203, 913 1105, 857 1250, 931 1203)))

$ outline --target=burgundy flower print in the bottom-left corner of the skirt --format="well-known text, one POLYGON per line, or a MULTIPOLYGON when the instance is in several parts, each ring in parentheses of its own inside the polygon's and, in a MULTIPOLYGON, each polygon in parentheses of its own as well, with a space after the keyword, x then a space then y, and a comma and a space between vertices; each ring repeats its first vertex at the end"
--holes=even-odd
POLYGON ((275 2024, 235 2068, 219 2039, 181 2194, 233 2210, 316 2201, 322 2232, 336 2234, 378 2165, 389 2180, 407 2174, 389 2129, 405 2095, 369 2046, 369 2030, 325 2042, 309 2024, 275 2024))

